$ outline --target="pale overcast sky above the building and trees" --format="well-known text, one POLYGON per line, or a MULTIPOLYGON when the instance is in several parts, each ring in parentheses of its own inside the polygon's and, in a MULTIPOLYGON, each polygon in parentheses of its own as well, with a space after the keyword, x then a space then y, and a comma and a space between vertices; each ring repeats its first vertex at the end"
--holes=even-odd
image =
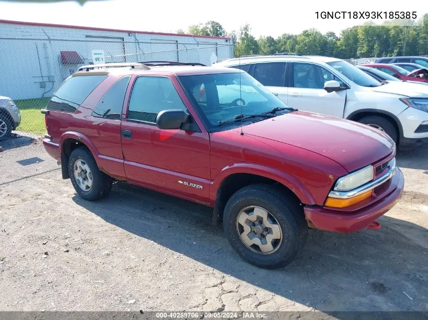
POLYGON ((189 25, 215 20, 228 32, 248 23, 256 38, 298 34, 309 28, 339 35, 342 29, 367 20, 317 19, 317 11, 409 11, 420 17, 428 12, 424 2, 304 0, 297 6, 295 2, 284 0, 90 0, 81 5, 76 1, 29 3, 15 0, 0 1, 0 19, 154 32, 186 31, 189 25))

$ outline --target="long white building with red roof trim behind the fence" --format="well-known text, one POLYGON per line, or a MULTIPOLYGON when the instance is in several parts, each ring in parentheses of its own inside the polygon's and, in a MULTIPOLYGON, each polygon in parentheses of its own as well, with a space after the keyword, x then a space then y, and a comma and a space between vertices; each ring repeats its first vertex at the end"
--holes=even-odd
POLYGON ((93 62, 93 50, 103 51, 105 62, 211 65, 213 57, 233 57, 226 37, 0 20, 0 95, 50 97, 70 73, 93 62))

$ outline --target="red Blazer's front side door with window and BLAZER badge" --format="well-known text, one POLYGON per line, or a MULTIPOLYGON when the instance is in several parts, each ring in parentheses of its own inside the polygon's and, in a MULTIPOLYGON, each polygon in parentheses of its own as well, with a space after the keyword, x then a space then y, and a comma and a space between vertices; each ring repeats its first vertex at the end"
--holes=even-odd
POLYGON ((167 76, 135 76, 131 81, 121 127, 128 179, 143 187, 209 203, 208 132, 205 128, 198 132, 163 130, 155 124, 162 110, 186 111, 189 102, 180 84, 167 76))

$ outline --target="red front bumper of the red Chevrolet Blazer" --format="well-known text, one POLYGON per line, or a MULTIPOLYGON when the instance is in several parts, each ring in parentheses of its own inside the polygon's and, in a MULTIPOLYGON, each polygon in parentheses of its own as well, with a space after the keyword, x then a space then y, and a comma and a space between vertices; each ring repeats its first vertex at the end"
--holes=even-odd
POLYGON ((360 231, 394 207, 403 194, 403 188, 403 173, 397 168, 386 196, 372 205, 354 212, 333 211, 319 206, 305 207, 306 220, 310 225, 320 230, 340 233, 360 231))

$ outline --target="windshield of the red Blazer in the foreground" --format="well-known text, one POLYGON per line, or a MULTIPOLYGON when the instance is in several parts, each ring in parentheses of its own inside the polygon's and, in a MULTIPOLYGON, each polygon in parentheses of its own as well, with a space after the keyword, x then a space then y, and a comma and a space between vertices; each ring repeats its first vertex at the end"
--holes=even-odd
MULTIPOLYGON (((223 126, 219 122, 241 114, 260 114, 274 108, 288 108, 246 72, 186 75, 178 78, 211 132, 223 130, 224 127, 240 126, 241 121, 231 121, 223 126)), ((289 110, 281 113, 283 112, 289 110)), ((247 119, 243 124, 263 119, 265 118, 247 119)))

